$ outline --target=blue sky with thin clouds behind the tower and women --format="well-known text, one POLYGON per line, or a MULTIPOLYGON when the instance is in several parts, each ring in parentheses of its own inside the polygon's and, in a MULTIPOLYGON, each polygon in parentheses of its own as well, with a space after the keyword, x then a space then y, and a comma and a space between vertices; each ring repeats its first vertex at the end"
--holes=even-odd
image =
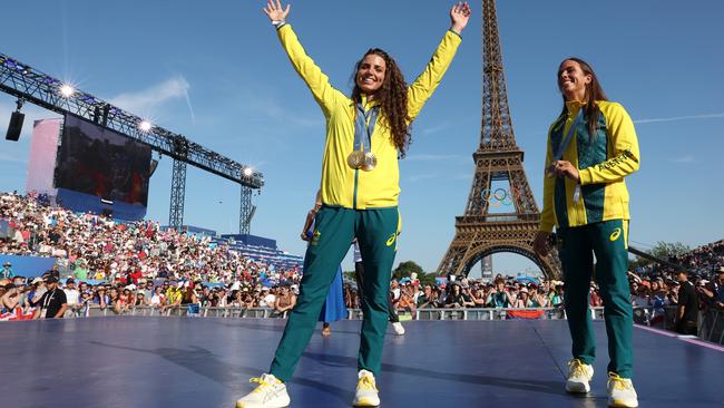
MULTIPOLYGON (((252 232, 303 253, 299 240, 319 185, 324 123, 292 70, 264 1, 26 1, 3 4, 0 50, 155 124, 255 166, 252 232)), ((392 54, 412 81, 449 27, 451 1, 296 1, 292 22, 307 52, 348 91, 370 47, 392 54)), ((724 2, 673 0, 498 2, 508 97, 518 145, 540 204, 546 130, 560 110, 555 74, 567 56, 596 69, 612 100, 636 123, 642 169, 627 179, 634 244, 722 239, 724 203, 724 2), (573 16, 573 17, 571 17, 573 16)), ((438 266, 466 205, 480 137, 481 4, 440 88, 413 127, 401 162, 404 232, 398 261, 438 266)), ((0 95, 0 132, 14 100, 0 95)), ((0 140, 0 190, 23 190, 32 120, 21 140, 0 140)), ((148 217, 168 220, 172 161, 151 178, 148 217)), ((189 167, 185 222, 238 229, 239 188, 189 167)), ((348 268, 349 268, 349 260, 348 268)), ((496 271, 534 264, 493 256, 496 271)))

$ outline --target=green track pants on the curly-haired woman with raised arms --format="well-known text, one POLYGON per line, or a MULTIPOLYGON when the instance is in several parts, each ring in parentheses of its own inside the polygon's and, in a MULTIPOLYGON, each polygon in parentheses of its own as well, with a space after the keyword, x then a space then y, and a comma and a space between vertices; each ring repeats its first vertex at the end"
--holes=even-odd
POLYGON ((388 327, 390 275, 397 252, 397 207, 350 210, 323 206, 316 215, 312 241, 304 258, 304 275, 296 307, 290 313, 270 373, 288 381, 310 342, 322 304, 352 240, 358 239, 364 264, 362 336, 358 369, 381 370, 388 327))

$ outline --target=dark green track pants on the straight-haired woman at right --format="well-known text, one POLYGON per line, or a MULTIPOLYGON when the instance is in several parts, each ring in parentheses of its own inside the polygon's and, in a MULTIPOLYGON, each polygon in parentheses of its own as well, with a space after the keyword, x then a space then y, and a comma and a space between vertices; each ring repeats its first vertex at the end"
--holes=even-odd
POLYGON ((628 221, 612 220, 558 231, 560 260, 566 280, 566 314, 573 357, 586 365, 596 358, 590 320, 589 291, 596 255, 596 282, 604 301, 608 337, 608 371, 633 376, 634 319, 628 288, 628 221))

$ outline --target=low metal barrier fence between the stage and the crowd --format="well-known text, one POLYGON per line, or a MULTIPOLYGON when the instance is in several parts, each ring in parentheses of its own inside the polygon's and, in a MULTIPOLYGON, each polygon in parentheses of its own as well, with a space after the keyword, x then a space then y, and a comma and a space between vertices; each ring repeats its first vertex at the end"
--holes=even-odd
MULTIPOLYGON (((66 312, 66 318, 94 318, 112 315, 139 317, 199 317, 199 318, 232 318, 232 319, 267 319, 286 318, 286 313, 275 313, 271 308, 212 308, 199 304, 183 307, 129 307, 119 312, 112 308, 100 308, 97 304, 86 304, 66 312)), ((412 313, 399 312, 401 320, 507 320, 507 319, 566 319, 562 308, 482 308, 482 309, 418 309, 412 313)), ((593 320, 604 318, 604 308, 590 308, 593 320)), ((664 309, 634 308, 634 322, 666 330, 674 330, 676 307, 664 309)), ((348 309, 349 320, 362 319, 361 309, 348 309)), ((698 337, 716 344, 724 344, 724 310, 708 310, 699 313, 698 337)))

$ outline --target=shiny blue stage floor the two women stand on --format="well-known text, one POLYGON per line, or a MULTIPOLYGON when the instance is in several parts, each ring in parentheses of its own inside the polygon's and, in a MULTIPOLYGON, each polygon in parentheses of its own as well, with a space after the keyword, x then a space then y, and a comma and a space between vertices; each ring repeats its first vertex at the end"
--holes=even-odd
MULTIPOLYGON (((268 370, 284 320, 89 318, 0 323, 2 407, 222 407, 268 370)), ((414 321, 388 332, 381 407, 605 407, 605 327, 587 397, 564 391, 565 321, 414 321)), ((349 407, 359 321, 317 328, 292 407, 349 407)), ((640 407, 722 407, 724 349, 634 330, 640 407)))

